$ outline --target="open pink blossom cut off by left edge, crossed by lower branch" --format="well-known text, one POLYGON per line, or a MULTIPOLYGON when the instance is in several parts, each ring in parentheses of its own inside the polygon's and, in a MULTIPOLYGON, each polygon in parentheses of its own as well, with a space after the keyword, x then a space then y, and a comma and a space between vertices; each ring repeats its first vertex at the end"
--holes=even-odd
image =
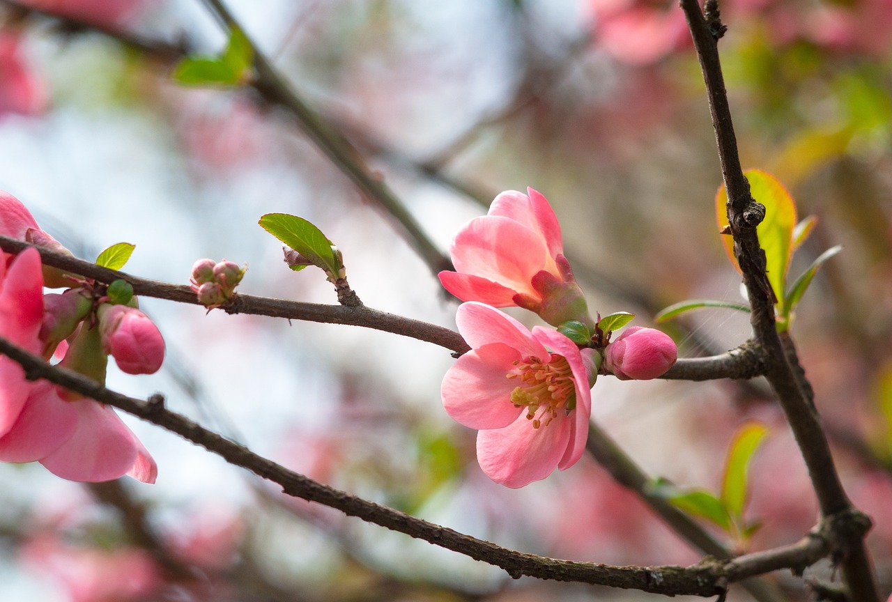
MULTIPOLYGON (((40 256, 26 249, 9 267, 0 261, 0 336, 32 353, 44 346, 40 256)), ((154 482, 154 460, 114 410, 94 400, 63 400, 53 383, 25 379, 0 358, 0 461, 39 461, 72 481, 109 481, 129 474, 154 482)))

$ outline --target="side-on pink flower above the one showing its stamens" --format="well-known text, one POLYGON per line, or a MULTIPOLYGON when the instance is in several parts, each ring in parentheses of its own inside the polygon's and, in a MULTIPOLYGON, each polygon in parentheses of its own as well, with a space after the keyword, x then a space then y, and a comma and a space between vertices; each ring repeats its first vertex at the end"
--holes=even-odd
POLYGON ((462 301, 518 306, 551 325, 591 323, 585 298, 564 257, 558 218, 548 200, 509 190, 489 212, 469 221, 451 245, 455 272, 440 272, 443 287, 462 301))

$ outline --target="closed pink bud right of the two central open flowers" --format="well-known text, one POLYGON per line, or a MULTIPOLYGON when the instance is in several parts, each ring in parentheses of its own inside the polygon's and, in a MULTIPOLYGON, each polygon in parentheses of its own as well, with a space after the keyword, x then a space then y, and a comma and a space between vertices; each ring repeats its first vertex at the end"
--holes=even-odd
POLYGON ((607 345, 607 369, 622 381, 646 381, 663 375, 678 359, 668 334, 632 326, 607 345))

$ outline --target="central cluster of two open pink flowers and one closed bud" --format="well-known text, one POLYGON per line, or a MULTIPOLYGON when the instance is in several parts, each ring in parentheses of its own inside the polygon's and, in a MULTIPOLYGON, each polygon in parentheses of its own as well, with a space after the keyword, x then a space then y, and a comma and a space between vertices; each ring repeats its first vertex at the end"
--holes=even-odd
POLYGON ((479 430, 483 472, 515 488, 582 457, 599 372, 656 378, 678 354, 653 328, 632 327, 610 342, 589 315, 548 200, 527 192, 500 194, 487 215, 461 227, 450 249, 456 271, 440 273, 443 287, 466 301, 456 323, 471 347, 443 378, 443 406, 479 430), (530 331, 496 309, 512 306, 558 330, 530 331))

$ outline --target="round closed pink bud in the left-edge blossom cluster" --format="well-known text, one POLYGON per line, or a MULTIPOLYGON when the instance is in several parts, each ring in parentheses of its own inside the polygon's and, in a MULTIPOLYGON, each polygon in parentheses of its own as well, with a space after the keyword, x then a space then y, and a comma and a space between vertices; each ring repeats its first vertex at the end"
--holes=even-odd
POLYGON ((99 334, 103 350, 131 375, 150 375, 164 361, 164 339, 153 321, 127 305, 99 307, 99 334))

